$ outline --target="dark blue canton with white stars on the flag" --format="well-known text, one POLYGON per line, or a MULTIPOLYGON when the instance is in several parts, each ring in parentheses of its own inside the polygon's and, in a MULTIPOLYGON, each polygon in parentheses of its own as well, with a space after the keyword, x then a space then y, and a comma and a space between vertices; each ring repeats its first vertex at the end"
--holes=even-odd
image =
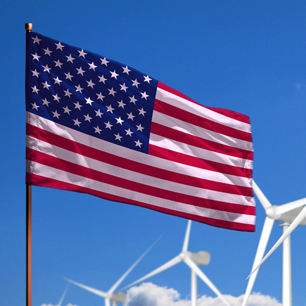
POLYGON ((98 54, 29 34, 26 109, 147 153, 158 81, 98 54))

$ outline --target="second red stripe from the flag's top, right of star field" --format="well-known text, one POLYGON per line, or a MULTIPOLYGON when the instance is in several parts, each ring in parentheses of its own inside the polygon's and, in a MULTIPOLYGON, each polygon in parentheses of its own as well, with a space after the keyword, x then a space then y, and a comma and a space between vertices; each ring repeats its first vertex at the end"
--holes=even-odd
POLYGON ((252 142, 252 134, 237 129, 230 128, 226 125, 220 124, 218 122, 203 118, 199 115, 189 113, 185 110, 172 106, 168 103, 162 102, 155 99, 154 111, 160 112, 167 116, 179 119, 181 121, 188 122, 192 125, 199 126, 203 129, 208 129, 210 131, 230 136, 233 138, 250 141, 252 142))

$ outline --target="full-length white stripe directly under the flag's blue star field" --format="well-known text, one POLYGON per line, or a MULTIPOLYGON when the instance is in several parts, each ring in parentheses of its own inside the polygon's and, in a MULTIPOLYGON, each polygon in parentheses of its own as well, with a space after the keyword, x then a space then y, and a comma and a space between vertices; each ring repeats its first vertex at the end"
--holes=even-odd
POLYGON ((114 154, 126 159, 135 160, 136 162, 145 165, 158 167, 160 169, 173 171, 181 174, 186 174, 193 177, 208 179, 215 182, 226 183, 230 185, 238 185, 244 187, 252 187, 252 179, 247 177, 239 177, 236 175, 222 174, 211 170, 204 170, 194 166, 187 166, 178 162, 168 161, 166 159, 147 155, 142 152, 131 150, 125 147, 118 147, 118 145, 108 141, 86 135, 82 132, 70 129, 61 124, 55 123, 43 117, 39 117, 30 112, 27 113, 27 122, 38 128, 52 132, 56 135, 62 136, 66 139, 76 141, 80 144, 105 151, 106 153, 114 154), (118 149, 119 148, 119 149, 118 149))

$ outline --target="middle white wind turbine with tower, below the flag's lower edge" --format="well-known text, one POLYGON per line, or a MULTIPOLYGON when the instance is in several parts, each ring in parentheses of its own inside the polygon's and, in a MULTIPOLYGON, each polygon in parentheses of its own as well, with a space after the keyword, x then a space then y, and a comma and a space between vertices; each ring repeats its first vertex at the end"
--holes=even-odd
POLYGON ((136 282, 133 282, 132 284, 126 286, 123 289, 126 289, 139 282, 142 282, 145 279, 153 275, 156 275, 162 271, 165 271, 166 269, 169 269, 170 267, 176 265, 177 263, 180 263, 181 261, 184 261, 186 265, 191 269, 191 305, 192 306, 196 306, 196 302, 197 302, 197 276, 199 276, 203 280, 203 282, 206 283, 207 286, 216 293, 216 295, 224 302, 224 304, 226 304, 227 306, 230 306, 230 304, 222 296, 220 291, 215 287, 215 285, 207 278, 207 276, 198 267, 199 265, 204 265, 204 266, 208 265, 210 261, 210 254, 205 251, 200 251, 197 253, 187 251, 189 235, 190 235, 190 226, 191 226, 191 221, 188 220, 183 248, 179 255, 175 256, 173 259, 169 260, 167 263, 163 264, 159 268, 155 269, 151 273, 145 275, 144 277, 138 279, 136 282))

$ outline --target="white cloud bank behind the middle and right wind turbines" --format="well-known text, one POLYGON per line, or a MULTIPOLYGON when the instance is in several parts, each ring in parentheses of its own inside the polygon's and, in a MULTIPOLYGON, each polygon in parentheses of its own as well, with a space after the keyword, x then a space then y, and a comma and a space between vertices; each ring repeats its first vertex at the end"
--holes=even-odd
MULTIPOLYGON (((233 297, 224 295, 232 306, 241 306, 243 295, 233 297)), ((224 306, 218 297, 203 295, 198 298, 198 306, 224 306)), ((281 306, 274 297, 252 293, 248 306, 281 306)), ((181 300, 177 290, 167 287, 159 287, 152 283, 143 283, 138 287, 132 287, 128 291, 125 306, 191 306, 190 300, 181 300)))

